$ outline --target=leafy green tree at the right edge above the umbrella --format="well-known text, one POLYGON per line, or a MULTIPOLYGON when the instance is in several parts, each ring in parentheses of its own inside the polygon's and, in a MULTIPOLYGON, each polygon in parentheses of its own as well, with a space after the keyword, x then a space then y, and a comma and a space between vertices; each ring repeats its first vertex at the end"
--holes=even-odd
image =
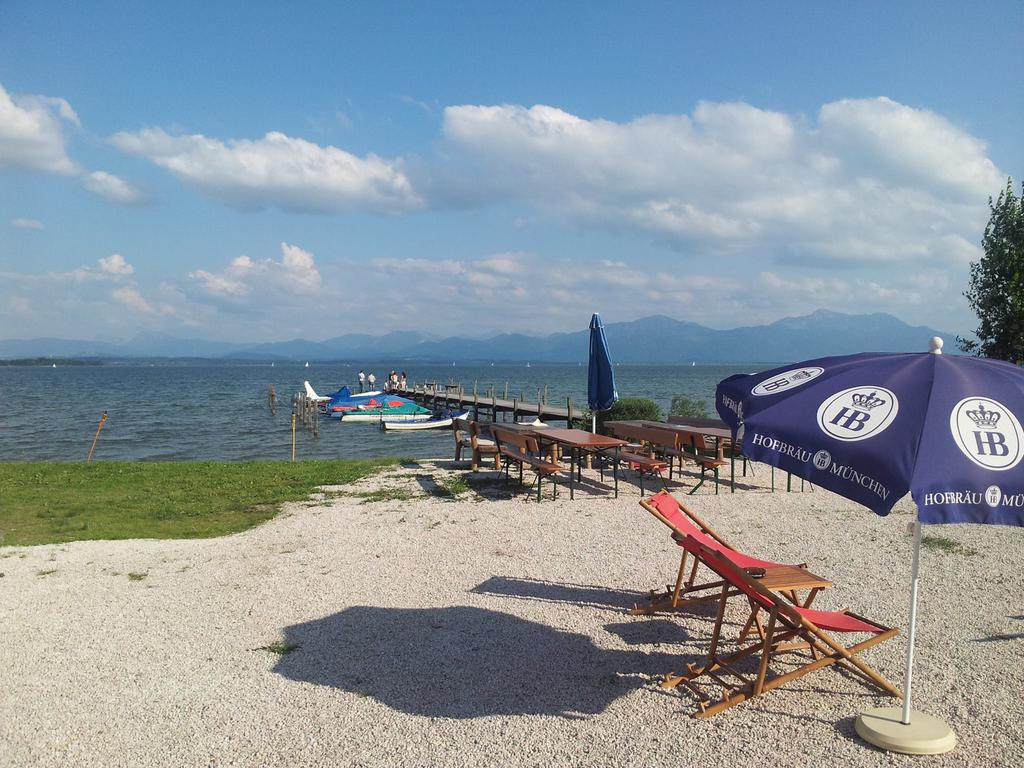
POLYGON ((971 262, 964 296, 978 315, 977 341, 957 338, 961 349, 983 357, 1024 360, 1024 183, 1021 197, 1013 180, 993 203, 981 245, 985 255, 971 262))

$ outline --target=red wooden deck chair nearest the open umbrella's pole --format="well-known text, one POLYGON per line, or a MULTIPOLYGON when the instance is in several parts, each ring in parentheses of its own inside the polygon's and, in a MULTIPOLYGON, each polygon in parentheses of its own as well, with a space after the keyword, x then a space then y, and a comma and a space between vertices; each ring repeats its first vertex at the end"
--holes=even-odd
POLYGON ((766 589, 758 580, 752 579, 745 570, 726 559, 722 552, 706 547, 693 537, 687 537, 683 546, 722 577, 723 581, 715 629, 703 665, 691 664, 688 671, 681 675, 670 673, 662 683, 665 688, 682 685, 698 697, 699 708, 693 713, 694 717, 712 717, 741 701, 785 685, 791 680, 797 680, 809 672, 831 665, 846 669, 886 693, 902 696, 896 686, 859 657, 861 651, 895 637, 899 630, 848 610, 814 610, 794 605, 766 589), (742 593, 753 608, 768 612, 768 626, 754 641, 740 645, 738 650, 728 655, 721 655, 719 646, 726 603, 729 596, 737 592, 742 593), (844 645, 833 637, 833 633, 866 634, 869 637, 852 645, 844 645), (794 640, 798 642, 794 643, 794 640), (797 649, 810 652, 806 664, 782 674, 770 674, 771 663, 777 655, 797 649), (739 662, 755 655, 759 657, 756 673, 744 673, 737 669, 739 662), (713 701, 696 685, 697 680, 706 677, 724 688, 721 699, 713 701))

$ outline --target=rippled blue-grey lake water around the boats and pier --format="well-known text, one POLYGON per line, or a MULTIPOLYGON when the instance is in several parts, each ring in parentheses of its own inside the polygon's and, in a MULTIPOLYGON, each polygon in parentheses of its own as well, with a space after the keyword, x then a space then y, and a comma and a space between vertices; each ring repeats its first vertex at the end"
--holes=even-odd
MULTIPOLYGON (((649 397, 667 410, 672 397, 708 402, 715 386, 735 373, 767 365, 618 366, 623 397, 649 397)), ((96 446, 102 460, 247 460, 291 456, 291 397, 308 379, 324 394, 352 386, 353 365, 196 364, 0 367, 0 460, 78 461, 86 458, 100 414, 108 420, 96 446), (278 413, 266 407, 268 385, 278 393, 278 413)), ((371 370, 383 380, 390 367, 371 370)), ((498 396, 537 399, 547 385, 548 401, 573 410, 587 404, 586 366, 421 366, 407 368, 410 383, 461 382, 498 396)), ((382 383, 381 381, 378 384, 382 383)), ((382 432, 373 424, 322 419, 319 437, 298 430, 300 459, 381 456, 426 458, 452 453, 450 431, 382 432)))

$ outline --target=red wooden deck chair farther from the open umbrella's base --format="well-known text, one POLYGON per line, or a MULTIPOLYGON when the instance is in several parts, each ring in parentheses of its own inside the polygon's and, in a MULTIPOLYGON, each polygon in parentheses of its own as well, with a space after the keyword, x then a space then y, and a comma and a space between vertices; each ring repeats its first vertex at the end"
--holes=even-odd
MULTIPOLYGON (((821 589, 831 586, 831 583, 827 580, 807 570, 807 563, 795 565, 779 563, 772 560, 762 560, 761 558, 740 552, 725 541, 695 512, 667 490, 654 494, 649 499, 641 500, 640 506, 672 530, 672 538, 679 546, 683 546, 683 542, 689 536, 710 549, 725 555, 737 567, 757 572, 761 578, 767 580, 767 584, 784 581, 788 584, 805 585, 809 592, 804 600, 800 600, 796 589, 786 590, 783 593, 795 604, 810 607, 817 593, 821 589)), ((651 590, 650 602, 646 605, 634 605, 631 611, 633 615, 680 610, 690 605, 718 599, 718 594, 716 592, 710 593, 710 591, 720 588, 722 581, 714 580, 698 584, 696 577, 700 560, 697 558, 693 558, 692 565, 689 568, 689 577, 687 578, 686 570, 689 557, 690 554, 684 549, 682 558, 680 558, 679 571, 676 574, 675 584, 668 585, 663 592, 651 590)), ((756 615, 752 615, 752 620, 756 621, 756 615)), ((743 627, 740 636, 745 636, 750 629, 751 623, 748 623, 743 627)))

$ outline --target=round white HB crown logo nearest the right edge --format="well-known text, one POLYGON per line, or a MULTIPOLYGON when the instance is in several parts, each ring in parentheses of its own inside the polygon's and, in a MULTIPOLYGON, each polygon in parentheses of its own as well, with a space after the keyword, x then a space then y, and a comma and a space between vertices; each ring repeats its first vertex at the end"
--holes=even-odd
POLYGON ((1000 402, 965 397, 949 415, 949 431, 964 455, 985 469, 1011 469, 1021 460, 1021 425, 1000 402))

